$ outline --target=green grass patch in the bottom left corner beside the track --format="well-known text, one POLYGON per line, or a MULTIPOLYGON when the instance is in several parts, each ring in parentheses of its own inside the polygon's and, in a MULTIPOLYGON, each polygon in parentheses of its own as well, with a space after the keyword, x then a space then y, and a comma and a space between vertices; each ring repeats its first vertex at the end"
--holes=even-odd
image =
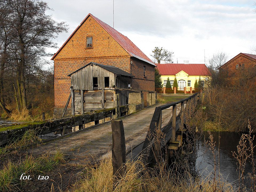
POLYGON ((53 156, 44 155, 33 158, 32 155, 29 155, 22 162, 8 162, 0 170, 0 191, 20 191, 21 186, 28 184, 28 180, 20 180, 22 173, 26 173, 26 175, 46 173, 64 161, 63 154, 57 152, 53 156))

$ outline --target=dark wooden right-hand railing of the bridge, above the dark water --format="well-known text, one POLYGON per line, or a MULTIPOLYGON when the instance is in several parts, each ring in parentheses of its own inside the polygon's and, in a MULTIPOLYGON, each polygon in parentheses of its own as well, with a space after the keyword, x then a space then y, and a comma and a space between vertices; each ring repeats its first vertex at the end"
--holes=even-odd
POLYGON ((186 107, 189 108, 188 111, 189 113, 191 113, 191 105, 196 106, 198 100, 201 101, 201 99, 202 92, 197 92, 186 99, 182 99, 178 102, 165 104, 155 108, 155 112, 152 117, 149 130, 147 132, 147 136, 141 150, 142 159, 146 163, 151 162, 154 157, 160 157, 161 148, 164 145, 166 145, 169 141, 175 142, 176 131, 178 131, 179 129, 183 129, 184 127, 184 102, 186 102, 186 107), (179 103, 181 103, 181 111, 178 114, 178 116, 176 116, 177 105, 179 103), (162 127, 162 110, 167 109, 171 106, 173 107, 172 118, 170 119, 166 126, 162 127), (159 137, 161 137, 159 133, 161 132, 165 134, 164 143, 159 141, 159 137))

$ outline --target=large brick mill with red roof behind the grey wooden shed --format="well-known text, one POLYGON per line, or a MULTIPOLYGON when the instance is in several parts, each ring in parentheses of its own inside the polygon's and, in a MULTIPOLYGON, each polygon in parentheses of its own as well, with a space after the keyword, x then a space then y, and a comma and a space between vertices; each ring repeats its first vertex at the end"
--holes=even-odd
POLYGON ((70 73, 89 62, 116 66, 134 75, 131 87, 155 90, 155 64, 129 38, 88 14, 54 54, 54 114, 63 111, 70 73))

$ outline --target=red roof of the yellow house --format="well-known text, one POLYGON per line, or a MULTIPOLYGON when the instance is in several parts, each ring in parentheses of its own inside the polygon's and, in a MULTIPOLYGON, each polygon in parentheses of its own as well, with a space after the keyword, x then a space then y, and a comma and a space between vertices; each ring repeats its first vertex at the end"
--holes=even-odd
POLYGON ((205 64, 175 64, 175 63, 165 63, 156 64, 157 69, 160 71, 161 75, 176 75, 181 70, 189 75, 211 75, 209 69, 205 64))

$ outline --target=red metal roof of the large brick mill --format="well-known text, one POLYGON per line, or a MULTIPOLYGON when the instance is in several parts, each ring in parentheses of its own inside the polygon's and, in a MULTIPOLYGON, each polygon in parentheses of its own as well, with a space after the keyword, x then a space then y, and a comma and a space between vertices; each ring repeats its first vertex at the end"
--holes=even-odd
POLYGON ((59 53, 59 51, 66 45, 66 43, 69 41, 69 39, 75 34, 75 32, 79 29, 79 27, 86 21, 86 19, 91 16, 123 49, 131 55, 131 57, 136 57, 138 59, 141 59, 143 61, 146 61, 152 65, 155 65, 150 58, 148 58, 131 40, 126 37, 125 35, 119 33, 117 30, 115 30, 113 27, 110 27, 97 17, 93 16, 92 14, 88 14, 86 18, 80 23, 80 25, 75 29, 75 31, 70 35, 70 37, 67 39, 67 41, 61 46, 61 48, 57 51, 57 53, 54 54, 53 58, 59 53))

